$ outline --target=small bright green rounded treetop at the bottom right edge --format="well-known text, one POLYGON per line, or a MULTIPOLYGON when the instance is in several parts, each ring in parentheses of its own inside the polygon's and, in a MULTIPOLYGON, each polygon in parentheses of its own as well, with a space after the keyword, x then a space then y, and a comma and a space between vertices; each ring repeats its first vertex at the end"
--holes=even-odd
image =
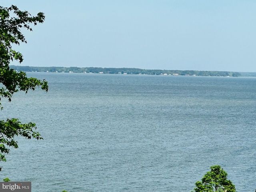
POLYGON ((210 169, 202 182, 196 182, 196 188, 192 192, 236 192, 235 186, 227 179, 228 174, 219 165, 211 166, 210 169))

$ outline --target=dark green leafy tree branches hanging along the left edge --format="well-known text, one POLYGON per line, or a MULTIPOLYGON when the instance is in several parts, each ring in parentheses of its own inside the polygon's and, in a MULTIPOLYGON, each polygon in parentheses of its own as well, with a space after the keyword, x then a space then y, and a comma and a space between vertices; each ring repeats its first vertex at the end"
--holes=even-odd
MULTIPOLYGON (((26 43, 20 29, 25 28, 32 31, 29 24, 36 25, 38 22, 44 22, 42 12, 39 12, 37 16, 31 16, 27 11, 20 11, 13 5, 10 8, 0 6, 0 84, 2 86, 0 88, 0 100, 7 98, 10 102, 15 92, 24 91, 27 93, 28 90, 35 90, 36 87, 48 91, 45 80, 28 78, 25 72, 16 72, 9 67, 13 60, 18 60, 20 63, 23 61, 22 54, 12 49, 13 44, 26 43)), ((1 103, 0 108, 3 109, 1 103)), ((16 118, 0 120, 0 161, 6 161, 5 154, 9 153, 9 147, 18 148, 18 143, 14 140, 16 136, 42 139, 35 129, 36 124, 32 122, 22 124, 16 118)))

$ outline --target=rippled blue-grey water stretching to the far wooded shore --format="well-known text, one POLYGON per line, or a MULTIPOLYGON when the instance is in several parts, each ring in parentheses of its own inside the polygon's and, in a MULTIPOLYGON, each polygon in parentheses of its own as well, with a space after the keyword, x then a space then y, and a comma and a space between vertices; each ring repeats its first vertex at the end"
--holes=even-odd
POLYGON ((220 165, 256 189, 256 78, 28 73, 42 90, 2 101, 1 119, 36 122, 0 179, 32 192, 191 192, 220 165))

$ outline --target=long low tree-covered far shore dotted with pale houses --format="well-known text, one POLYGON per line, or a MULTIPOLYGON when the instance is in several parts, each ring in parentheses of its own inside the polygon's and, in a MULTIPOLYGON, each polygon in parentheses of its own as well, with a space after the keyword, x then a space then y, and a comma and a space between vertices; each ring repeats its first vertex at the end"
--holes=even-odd
POLYGON ((196 70, 158 70, 139 68, 101 68, 101 67, 32 67, 15 66, 10 68, 24 72, 74 72, 74 73, 103 73, 103 74, 147 74, 147 75, 189 75, 189 76, 242 76, 239 72, 228 71, 196 71, 196 70))

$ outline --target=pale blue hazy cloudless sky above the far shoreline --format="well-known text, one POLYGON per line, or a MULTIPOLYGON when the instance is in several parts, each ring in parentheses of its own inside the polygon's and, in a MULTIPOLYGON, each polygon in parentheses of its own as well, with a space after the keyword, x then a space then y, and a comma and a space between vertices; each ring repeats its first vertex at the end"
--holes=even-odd
MULTIPOLYGON (((21 65, 256 72, 255 0, 6 0, 46 20, 21 65)), ((18 65, 18 63, 13 63, 18 65)))

